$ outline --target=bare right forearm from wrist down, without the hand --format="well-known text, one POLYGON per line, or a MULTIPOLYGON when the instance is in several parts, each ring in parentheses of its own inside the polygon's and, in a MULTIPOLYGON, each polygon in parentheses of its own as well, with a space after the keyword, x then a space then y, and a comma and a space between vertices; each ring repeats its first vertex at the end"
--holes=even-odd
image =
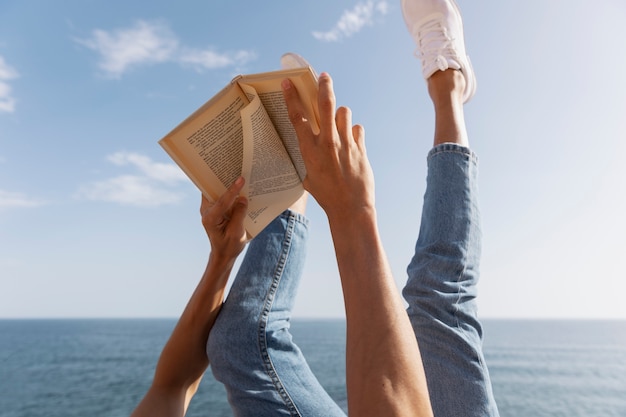
POLYGON ((329 216, 347 317, 348 407, 357 416, 430 416, 415 334, 374 209, 329 216))

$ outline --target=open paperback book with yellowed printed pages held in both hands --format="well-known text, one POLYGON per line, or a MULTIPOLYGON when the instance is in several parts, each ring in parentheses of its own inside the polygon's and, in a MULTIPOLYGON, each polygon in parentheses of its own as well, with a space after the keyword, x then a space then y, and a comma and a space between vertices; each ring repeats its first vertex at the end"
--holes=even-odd
POLYGON ((311 68, 298 68, 235 77, 159 141, 211 201, 239 176, 245 178, 244 226, 250 237, 304 192, 306 170, 282 94, 285 78, 318 129, 317 77, 311 68))

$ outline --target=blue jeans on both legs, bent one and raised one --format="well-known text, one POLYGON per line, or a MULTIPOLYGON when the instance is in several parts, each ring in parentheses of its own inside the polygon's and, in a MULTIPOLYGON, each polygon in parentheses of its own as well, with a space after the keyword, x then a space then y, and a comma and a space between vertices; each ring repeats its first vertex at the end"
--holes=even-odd
MULTIPOLYGON (((476 316, 480 258, 477 158, 440 145, 403 294, 420 346, 433 411, 498 416, 476 316)), ((344 416, 289 334, 306 253, 306 220, 289 211, 249 245, 211 331, 207 353, 236 416, 344 416)))

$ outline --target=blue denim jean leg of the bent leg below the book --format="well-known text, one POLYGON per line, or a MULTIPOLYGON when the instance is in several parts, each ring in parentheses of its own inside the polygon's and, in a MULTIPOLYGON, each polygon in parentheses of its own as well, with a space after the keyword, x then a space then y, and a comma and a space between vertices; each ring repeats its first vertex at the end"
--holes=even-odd
POLYGON ((235 416, 345 416, 289 333, 307 237, 290 211, 257 235, 210 333, 211 369, 235 416))

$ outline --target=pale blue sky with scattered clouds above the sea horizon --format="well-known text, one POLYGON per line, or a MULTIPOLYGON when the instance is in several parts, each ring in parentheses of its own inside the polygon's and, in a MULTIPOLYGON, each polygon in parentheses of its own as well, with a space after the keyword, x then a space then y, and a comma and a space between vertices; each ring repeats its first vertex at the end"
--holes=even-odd
MULTIPOLYGON (((483 317, 626 318, 626 4, 459 1, 478 77, 483 317)), ((366 129, 399 287, 433 113, 399 2, 0 2, 0 317, 175 317, 209 244, 157 141, 307 57, 366 129)), ((297 316, 341 317, 323 213, 297 316)))

